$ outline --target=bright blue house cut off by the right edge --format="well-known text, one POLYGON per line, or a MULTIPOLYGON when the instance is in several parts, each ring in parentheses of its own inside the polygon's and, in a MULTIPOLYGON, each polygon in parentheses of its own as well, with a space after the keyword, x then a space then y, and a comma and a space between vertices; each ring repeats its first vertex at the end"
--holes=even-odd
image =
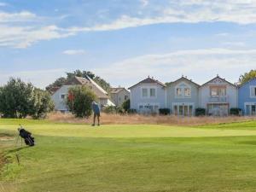
POLYGON ((238 106, 244 115, 256 114, 256 79, 241 84, 238 91, 238 106))

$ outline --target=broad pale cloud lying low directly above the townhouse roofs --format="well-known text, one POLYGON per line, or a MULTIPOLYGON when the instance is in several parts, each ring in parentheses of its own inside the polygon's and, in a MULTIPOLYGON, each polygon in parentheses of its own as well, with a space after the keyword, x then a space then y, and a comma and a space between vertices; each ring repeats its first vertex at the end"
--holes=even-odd
POLYGON ((235 83, 241 73, 255 68, 255 63, 256 49, 189 49, 162 55, 142 55, 92 70, 113 85, 123 82, 122 85, 130 86, 148 75, 169 82, 182 74, 199 84, 216 74, 235 83))

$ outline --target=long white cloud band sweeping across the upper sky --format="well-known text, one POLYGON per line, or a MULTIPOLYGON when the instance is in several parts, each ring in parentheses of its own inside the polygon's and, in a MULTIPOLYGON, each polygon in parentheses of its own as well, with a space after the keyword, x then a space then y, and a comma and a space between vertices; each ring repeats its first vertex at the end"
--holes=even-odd
MULTIPOLYGON (((158 11, 151 10, 154 4, 150 3, 149 6, 148 0, 141 0, 141 3, 145 7, 139 11, 140 16, 131 16, 124 12, 115 20, 111 21, 107 18, 106 20, 110 20, 108 23, 95 20, 96 24, 91 26, 67 28, 56 26, 54 20, 45 22, 43 17, 29 11, 16 13, 0 11, 0 46, 26 48, 41 40, 67 38, 78 32, 111 31, 160 23, 215 21, 256 23, 256 0, 177 0, 166 4, 158 3, 158 11)), ((219 36, 224 35, 227 34, 219 34, 219 36)))

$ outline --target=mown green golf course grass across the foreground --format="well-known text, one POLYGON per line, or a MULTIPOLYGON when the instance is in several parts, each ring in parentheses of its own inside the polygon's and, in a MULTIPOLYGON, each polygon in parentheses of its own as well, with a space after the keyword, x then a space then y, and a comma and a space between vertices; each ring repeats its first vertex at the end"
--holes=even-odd
POLYGON ((0 191, 255 191, 255 127, 256 121, 92 128, 0 119, 0 151, 7 158, 0 156, 0 191), (34 133, 36 147, 15 148, 9 136, 20 123, 34 133))

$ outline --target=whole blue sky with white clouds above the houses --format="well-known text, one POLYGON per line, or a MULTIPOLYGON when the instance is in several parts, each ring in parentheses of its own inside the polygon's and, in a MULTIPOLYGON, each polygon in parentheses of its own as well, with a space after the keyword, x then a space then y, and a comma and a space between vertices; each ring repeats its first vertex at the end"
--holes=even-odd
POLYGON ((0 85, 92 71, 112 86, 256 68, 256 0, 0 0, 0 85))

